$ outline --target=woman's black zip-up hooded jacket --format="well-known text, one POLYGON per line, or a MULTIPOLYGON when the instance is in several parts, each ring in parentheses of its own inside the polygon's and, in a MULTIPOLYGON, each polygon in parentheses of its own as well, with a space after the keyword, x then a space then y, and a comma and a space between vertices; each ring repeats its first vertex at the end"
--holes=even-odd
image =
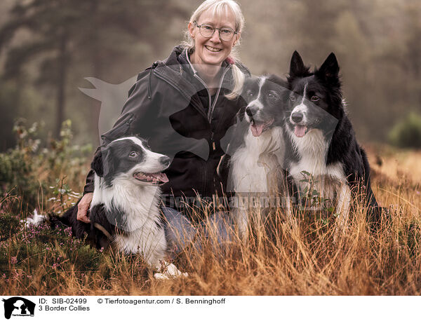
MULTIPOLYGON (((246 76, 250 73, 237 66, 246 76)), ((173 206, 172 196, 208 198, 221 195, 221 177, 216 169, 224 154, 220 139, 234 124, 243 106, 241 97, 228 100, 233 87, 232 66, 222 64, 220 90, 211 97, 203 81, 194 74, 186 50, 178 46, 163 61, 138 75, 128 100, 112 130, 102 135, 103 144, 128 135, 146 138, 152 151, 173 161, 166 170, 169 182, 162 186, 163 201, 173 206), (216 99, 216 104, 215 104, 216 99)), ((99 147, 98 147, 99 148, 99 147)), ((225 179, 222 179, 225 181, 225 179)), ((86 179, 84 193, 93 191, 93 172, 86 179)))

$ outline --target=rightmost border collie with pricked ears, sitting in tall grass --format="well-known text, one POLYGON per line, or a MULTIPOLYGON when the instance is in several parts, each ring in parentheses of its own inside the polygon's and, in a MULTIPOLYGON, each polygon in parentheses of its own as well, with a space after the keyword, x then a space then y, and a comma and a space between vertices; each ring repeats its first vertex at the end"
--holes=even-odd
MULTIPOLYGON (((288 154, 288 174, 296 186, 308 186, 302 172, 319 184, 323 198, 336 200, 338 227, 345 228, 352 190, 363 184, 366 205, 379 210, 370 188, 366 152, 356 142, 342 100, 338 61, 333 53, 319 69, 309 71, 297 51, 290 61, 289 107, 286 132, 293 153, 288 154)), ((376 212, 378 215, 378 212, 376 212)))

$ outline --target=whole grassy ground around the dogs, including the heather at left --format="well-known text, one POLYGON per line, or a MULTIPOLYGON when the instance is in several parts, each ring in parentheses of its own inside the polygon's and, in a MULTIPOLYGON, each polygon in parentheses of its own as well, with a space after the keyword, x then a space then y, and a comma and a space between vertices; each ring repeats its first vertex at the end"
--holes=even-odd
MULTIPOLYGON (((373 191, 390 212, 376 231, 368 229, 359 204, 336 243, 332 219, 298 214, 290 224, 279 214, 270 235, 255 228, 247 243, 234 242, 225 252, 209 242, 200 252, 186 250, 175 263, 189 277, 174 280, 154 280, 141 257, 94 250, 69 237, 68 229, 22 229, 19 219, 27 212, 14 212, 18 198, 5 196, 0 294, 419 295, 421 151, 367 149, 373 191)), ((81 185, 83 175, 78 179, 81 185)), ((46 204, 43 213, 60 208, 57 200, 46 204)))

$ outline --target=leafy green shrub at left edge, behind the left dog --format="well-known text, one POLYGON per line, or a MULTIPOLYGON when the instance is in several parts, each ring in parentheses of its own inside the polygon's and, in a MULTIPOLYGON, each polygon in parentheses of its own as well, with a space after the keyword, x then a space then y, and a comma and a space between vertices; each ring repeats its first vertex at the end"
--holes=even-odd
POLYGON ((37 138, 42 124, 27 127, 24 119, 16 121, 13 130, 17 144, 0 154, 0 191, 2 195, 20 198, 20 202, 13 203, 15 212, 43 208, 47 199, 52 201, 54 210, 56 201, 60 200, 62 211, 67 206, 65 200, 77 196, 72 194, 69 184, 79 185, 80 176, 86 172, 83 165, 91 146, 72 144, 71 125, 71 121, 65 121, 60 139, 43 144, 37 138))

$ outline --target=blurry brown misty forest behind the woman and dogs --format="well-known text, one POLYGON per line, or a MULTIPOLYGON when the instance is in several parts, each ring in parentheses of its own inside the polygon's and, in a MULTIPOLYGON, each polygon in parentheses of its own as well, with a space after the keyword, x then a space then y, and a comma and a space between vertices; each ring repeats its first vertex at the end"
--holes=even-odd
MULTIPOLYGON (((100 102, 78 89, 92 88, 84 78, 118 84, 165 58, 200 3, 0 1, 0 151, 15 146, 21 117, 44 122, 44 142, 69 118, 74 144, 97 145, 100 102)), ((285 74, 294 50, 316 65, 333 51, 359 139, 421 146, 419 0, 239 4, 246 18, 239 57, 253 74, 285 74)))

